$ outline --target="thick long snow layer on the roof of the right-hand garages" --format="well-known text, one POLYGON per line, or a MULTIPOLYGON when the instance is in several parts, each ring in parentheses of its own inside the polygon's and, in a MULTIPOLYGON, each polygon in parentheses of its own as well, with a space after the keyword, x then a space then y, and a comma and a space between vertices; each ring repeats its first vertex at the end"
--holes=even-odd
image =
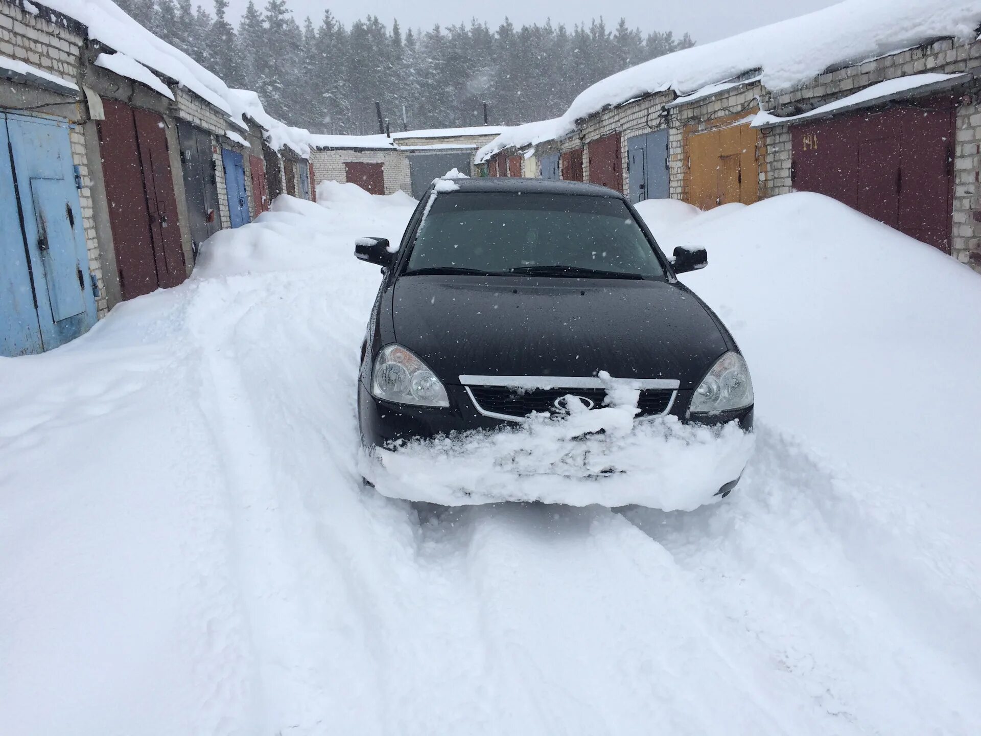
POLYGON ((691 92, 760 70, 768 89, 788 89, 831 66, 933 38, 973 38, 981 0, 845 0, 799 18, 676 51, 601 79, 565 113, 577 120, 659 89, 691 92))

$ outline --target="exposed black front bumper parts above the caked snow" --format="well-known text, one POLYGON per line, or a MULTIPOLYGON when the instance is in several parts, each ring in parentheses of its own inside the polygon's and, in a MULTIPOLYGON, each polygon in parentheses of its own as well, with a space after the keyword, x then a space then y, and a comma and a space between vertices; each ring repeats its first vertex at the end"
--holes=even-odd
MULTIPOLYGON (((448 384, 445 389, 449 398, 448 407, 412 406, 375 398, 364 382, 359 381, 358 421, 362 444, 365 447, 386 447, 399 440, 427 440, 459 432, 517 426, 516 422, 480 413, 462 386, 448 384)), ((692 394, 692 391, 679 391, 668 415, 705 426, 735 421, 743 430, 752 430, 752 406, 713 416, 685 417, 692 394)))

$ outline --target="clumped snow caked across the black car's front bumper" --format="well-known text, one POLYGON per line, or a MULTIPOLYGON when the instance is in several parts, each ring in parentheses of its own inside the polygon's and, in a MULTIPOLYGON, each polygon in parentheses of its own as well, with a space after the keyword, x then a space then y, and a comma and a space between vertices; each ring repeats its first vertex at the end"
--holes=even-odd
POLYGON ((362 452, 362 475, 395 499, 467 505, 505 500, 691 510, 717 500, 749 461, 753 435, 629 406, 583 408, 497 430, 362 452))

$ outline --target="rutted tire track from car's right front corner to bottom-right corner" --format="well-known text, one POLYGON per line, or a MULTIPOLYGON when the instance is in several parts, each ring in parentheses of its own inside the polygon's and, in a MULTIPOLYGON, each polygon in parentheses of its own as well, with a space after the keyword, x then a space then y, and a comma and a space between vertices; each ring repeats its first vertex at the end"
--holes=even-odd
POLYGON ((819 708, 850 724, 845 732, 973 733, 981 711, 965 705, 981 702, 977 665, 950 657, 937 646, 946 632, 921 629, 896 605, 922 595, 926 581, 900 559, 899 575, 870 578, 878 560, 841 515, 858 500, 765 422, 757 433, 756 456, 727 504, 624 515, 671 551, 731 621, 729 635, 762 643, 819 708), (896 584, 910 587, 898 596, 896 584))

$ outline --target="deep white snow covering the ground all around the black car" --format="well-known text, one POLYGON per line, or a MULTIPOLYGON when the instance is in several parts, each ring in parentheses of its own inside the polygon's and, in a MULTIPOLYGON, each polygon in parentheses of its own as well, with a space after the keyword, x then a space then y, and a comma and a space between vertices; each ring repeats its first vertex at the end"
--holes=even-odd
POLYGON ((737 492, 417 509, 360 484, 351 247, 413 202, 318 197, 0 359, 0 732, 978 733, 976 275, 819 195, 646 203, 749 361, 737 492))

